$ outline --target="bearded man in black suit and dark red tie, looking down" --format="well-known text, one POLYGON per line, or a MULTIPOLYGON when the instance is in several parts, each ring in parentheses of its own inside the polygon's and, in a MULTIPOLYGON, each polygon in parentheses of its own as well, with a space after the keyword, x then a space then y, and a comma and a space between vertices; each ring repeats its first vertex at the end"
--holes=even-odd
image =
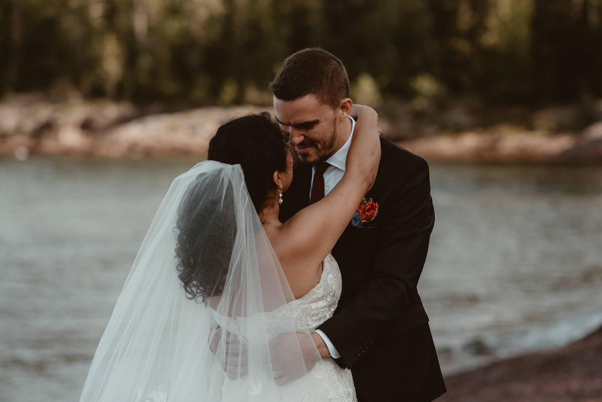
MULTIPOLYGON (((343 177, 355 121, 321 113, 352 105, 343 64, 323 49, 288 57, 270 88, 302 162, 280 209, 284 222, 343 177)), ((429 168, 389 140, 380 146, 374 186, 332 250, 343 276, 337 310, 312 337, 322 357, 351 369, 359 401, 432 401, 445 385, 416 289, 435 222, 429 168)))

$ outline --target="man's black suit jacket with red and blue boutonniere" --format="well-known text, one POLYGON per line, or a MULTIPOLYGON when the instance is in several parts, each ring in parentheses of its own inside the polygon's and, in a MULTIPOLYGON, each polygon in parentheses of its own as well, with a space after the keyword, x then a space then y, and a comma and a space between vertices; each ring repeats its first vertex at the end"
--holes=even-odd
MULTIPOLYGON (((320 325, 350 368, 360 401, 432 401, 445 392, 429 318, 416 289, 435 222, 429 167, 380 139, 376 180, 366 198, 376 218, 349 224, 332 255, 343 277, 334 316, 320 325)), ((309 205, 311 166, 295 169, 281 221, 309 205)))

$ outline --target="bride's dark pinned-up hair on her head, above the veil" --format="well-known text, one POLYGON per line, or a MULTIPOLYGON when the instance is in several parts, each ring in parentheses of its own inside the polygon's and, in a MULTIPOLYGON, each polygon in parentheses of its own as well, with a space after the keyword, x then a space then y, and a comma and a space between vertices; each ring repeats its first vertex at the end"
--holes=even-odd
POLYGON ((209 141, 207 159, 243 168, 244 182, 260 212, 276 190, 273 174, 287 170, 287 139, 270 113, 264 111, 233 119, 217 129, 209 141))

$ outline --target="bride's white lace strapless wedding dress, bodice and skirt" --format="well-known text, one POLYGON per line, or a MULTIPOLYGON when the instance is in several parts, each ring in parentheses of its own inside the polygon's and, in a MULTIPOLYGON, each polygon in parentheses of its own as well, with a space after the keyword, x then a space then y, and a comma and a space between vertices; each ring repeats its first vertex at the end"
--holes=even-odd
MULTIPOLYGON (((293 316, 299 328, 315 330, 320 324, 332 316, 341 296, 341 272, 337 261, 328 255, 324 259, 324 268, 320 282, 305 296, 293 300, 284 306, 263 313, 270 333, 279 331, 282 317, 293 316)), ((224 330, 232 334, 244 333, 240 327, 244 321, 232 319, 223 315, 216 316, 217 322, 224 330)), ((284 330, 284 328, 283 328, 284 330)), ((226 378, 222 388, 223 401, 261 401, 261 402, 354 402, 356 401, 353 378, 349 369, 340 368, 331 357, 321 359, 314 368, 290 383, 282 386, 274 384, 267 374, 262 378, 226 378)))

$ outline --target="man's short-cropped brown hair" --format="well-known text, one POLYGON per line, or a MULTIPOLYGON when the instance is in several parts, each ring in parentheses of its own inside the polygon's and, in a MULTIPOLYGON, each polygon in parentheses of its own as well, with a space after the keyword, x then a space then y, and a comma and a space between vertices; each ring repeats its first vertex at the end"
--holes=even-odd
POLYGON ((333 109, 349 98, 349 77, 341 60, 320 48, 308 48, 284 60, 270 89, 276 98, 292 101, 302 96, 317 96, 333 109))

